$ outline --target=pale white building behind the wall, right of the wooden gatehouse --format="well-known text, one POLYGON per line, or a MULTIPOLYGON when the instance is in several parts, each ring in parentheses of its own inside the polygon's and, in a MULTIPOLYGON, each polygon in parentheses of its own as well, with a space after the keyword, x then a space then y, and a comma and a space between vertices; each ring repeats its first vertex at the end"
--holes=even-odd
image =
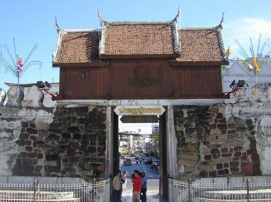
MULTIPOLYGON (((261 72, 257 73, 257 81, 264 81, 271 86, 271 58, 267 57, 264 59, 263 65, 260 67, 261 72)), ((238 82, 238 80, 245 80, 249 86, 249 98, 253 102, 252 87, 256 84, 256 78, 253 70, 250 70, 245 65, 243 65, 241 60, 235 60, 229 66, 227 70, 222 71, 223 80, 223 92, 230 92, 230 84, 233 80, 238 82)), ((231 94, 230 99, 226 99, 225 102, 234 102, 233 96, 231 94)))

